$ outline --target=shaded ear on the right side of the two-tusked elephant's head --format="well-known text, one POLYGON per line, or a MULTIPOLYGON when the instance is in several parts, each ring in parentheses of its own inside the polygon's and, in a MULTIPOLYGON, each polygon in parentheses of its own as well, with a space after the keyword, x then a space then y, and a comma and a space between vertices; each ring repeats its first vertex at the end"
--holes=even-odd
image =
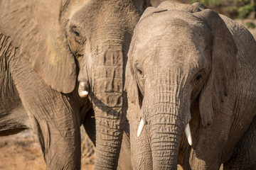
POLYGON ((233 35, 218 13, 210 9, 194 13, 206 21, 213 30, 212 68, 208 81, 199 97, 201 122, 204 127, 213 123, 213 111, 220 108, 220 102, 228 96, 230 79, 235 67, 237 47, 233 35))

